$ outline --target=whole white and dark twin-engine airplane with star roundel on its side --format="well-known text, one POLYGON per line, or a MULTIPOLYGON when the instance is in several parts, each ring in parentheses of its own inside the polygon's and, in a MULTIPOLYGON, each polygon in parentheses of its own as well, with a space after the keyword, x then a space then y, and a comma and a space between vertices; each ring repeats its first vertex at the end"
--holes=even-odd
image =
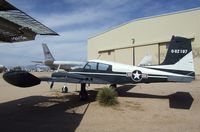
POLYGON ((10 71, 3 75, 10 84, 31 87, 41 81, 81 84, 80 99, 87 99, 86 84, 135 84, 158 82, 191 82, 195 79, 191 39, 173 36, 163 63, 137 67, 103 60, 90 60, 82 68, 55 72, 49 78, 35 77, 26 71, 10 71))

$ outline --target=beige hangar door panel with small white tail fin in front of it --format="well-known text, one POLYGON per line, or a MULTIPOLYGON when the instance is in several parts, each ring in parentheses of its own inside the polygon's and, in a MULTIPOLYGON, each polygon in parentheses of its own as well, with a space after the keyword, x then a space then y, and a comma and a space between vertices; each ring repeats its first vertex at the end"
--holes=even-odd
POLYGON ((135 65, 138 65, 145 56, 152 56, 152 64, 158 64, 158 44, 135 47, 135 65))

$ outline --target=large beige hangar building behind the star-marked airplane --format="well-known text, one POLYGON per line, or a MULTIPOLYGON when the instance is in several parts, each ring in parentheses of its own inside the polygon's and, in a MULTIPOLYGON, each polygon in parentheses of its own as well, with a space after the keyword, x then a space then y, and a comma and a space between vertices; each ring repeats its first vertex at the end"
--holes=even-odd
POLYGON ((165 58, 173 35, 192 39, 195 72, 200 75, 200 8, 136 19, 88 39, 88 59, 138 65, 144 56, 152 64, 165 58))

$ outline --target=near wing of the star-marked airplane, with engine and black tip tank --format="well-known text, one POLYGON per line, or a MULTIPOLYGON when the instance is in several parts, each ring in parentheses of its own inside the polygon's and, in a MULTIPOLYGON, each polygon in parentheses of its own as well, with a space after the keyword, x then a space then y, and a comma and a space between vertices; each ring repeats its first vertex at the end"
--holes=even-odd
POLYGON ((3 78, 8 83, 17 87, 32 87, 41 83, 47 82, 67 82, 67 83, 95 83, 95 84, 109 84, 110 82, 98 78, 91 78, 86 75, 79 75, 63 72, 55 72, 51 77, 36 77, 26 71, 9 71, 3 75, 3 78))

